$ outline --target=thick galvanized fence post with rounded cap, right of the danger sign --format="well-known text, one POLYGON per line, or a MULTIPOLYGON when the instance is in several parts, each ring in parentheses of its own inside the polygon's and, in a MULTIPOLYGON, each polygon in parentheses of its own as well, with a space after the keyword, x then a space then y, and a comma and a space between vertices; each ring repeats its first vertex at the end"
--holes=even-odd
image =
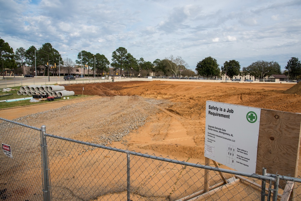
POLYGON ((45 133, 46 133, 46 126, 43 125, 41 127, 43 194, 44 194, 44 201, 51 201, 47 142, 46 142, 45 133))

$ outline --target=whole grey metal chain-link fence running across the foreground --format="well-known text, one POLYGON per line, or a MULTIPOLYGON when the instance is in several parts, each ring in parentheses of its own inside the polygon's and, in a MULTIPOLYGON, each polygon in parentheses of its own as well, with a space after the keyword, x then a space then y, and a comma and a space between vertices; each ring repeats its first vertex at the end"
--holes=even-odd
POLYGON ((249 174, 46 133, 0 118, 0 200, 301 200, 301 178, 249 174))

